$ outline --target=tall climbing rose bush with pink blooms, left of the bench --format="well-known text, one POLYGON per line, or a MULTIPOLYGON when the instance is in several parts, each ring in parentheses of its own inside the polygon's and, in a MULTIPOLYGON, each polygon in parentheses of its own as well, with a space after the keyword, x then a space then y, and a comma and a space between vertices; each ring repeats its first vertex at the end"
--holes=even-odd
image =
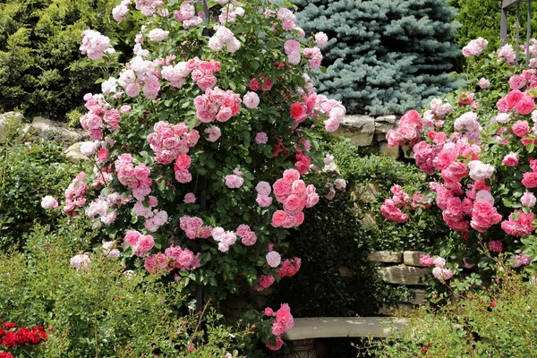
MULTIPOLYGON (((218 0, 204 13, 190 1, 124 1, 115 20, 147 20, 127 64, 97 31, 82 38, 81 52, 114 74, 84 97, 95 166, 72 181, 62 209, 94 218, 125 262, 191 293, 204 286, 216 303, 300 268, 277 250, 319 200, 303 178, 323 166, 311 127, 334 132, 345 115, 312 86, 322 58, 314 34, 272 3, 218 0)), ((293 326, 282 307, 275 336, 293 326)))

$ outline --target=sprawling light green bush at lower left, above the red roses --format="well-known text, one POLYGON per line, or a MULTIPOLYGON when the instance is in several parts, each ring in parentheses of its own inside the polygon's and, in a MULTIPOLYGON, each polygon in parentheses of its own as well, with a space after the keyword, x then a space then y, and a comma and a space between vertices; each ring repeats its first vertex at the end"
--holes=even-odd
MULTIPOLYGON (((0 316, 48 327, 48 339, 17 357, 223 357, 251 334, 222 323, 211 307, 185 312, 182 283, 166 284, 120 260, 90 252, 86 270, 69 261, 94 239, 69 223, 54 233, 36 226, 24 253, 0 252, 0 316), (236 338, 234 338, 236 337, 236 338), (189 346, 195 350, 189 353, 189 346)), ((190 310, 186 310, 190 311, 190 310)))

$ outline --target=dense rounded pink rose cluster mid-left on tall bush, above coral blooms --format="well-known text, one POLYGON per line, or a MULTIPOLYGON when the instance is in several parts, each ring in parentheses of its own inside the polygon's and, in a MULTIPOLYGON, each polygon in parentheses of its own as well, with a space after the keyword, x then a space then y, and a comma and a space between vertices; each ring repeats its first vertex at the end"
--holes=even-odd
POLYGON ((148 135, 148 142, 158 164, 170 164, 185 155, 200 140, 200 133, 188 129, 184 123, 169 124, 161 121, 153 126, 155 132, 148 135))

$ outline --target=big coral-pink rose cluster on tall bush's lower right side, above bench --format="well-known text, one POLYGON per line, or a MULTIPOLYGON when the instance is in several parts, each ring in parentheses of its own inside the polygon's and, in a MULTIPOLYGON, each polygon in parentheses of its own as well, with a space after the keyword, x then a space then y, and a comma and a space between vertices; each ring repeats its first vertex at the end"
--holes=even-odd
MULTIPOLYGON (((319 202, 319 194, 315 186, 307 185, 300 179, 296 169, 287 169, 283 178, 277 179, 272 185, 276 200, 283 204, 283 210, 277 210, 272 215, 271 225, 274 227, 298 227, 304 221, 304 208, 311 208, 319 202)), ((266 194, 258 192, 260 195, 266 194)))

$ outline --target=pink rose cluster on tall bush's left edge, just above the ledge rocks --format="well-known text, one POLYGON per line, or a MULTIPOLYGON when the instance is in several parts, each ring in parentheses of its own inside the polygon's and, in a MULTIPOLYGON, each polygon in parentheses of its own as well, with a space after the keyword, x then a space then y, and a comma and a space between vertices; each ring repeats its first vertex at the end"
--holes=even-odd
POLYGON ((86 108, 90 111, 81 116, 81 126, 88 131, 92 140, 103 139, 105 129, 115 131, 121 121, 121 114, 117 109, 109 109, 110 105, 102 95, 88 93, 84 96, 86 108))

